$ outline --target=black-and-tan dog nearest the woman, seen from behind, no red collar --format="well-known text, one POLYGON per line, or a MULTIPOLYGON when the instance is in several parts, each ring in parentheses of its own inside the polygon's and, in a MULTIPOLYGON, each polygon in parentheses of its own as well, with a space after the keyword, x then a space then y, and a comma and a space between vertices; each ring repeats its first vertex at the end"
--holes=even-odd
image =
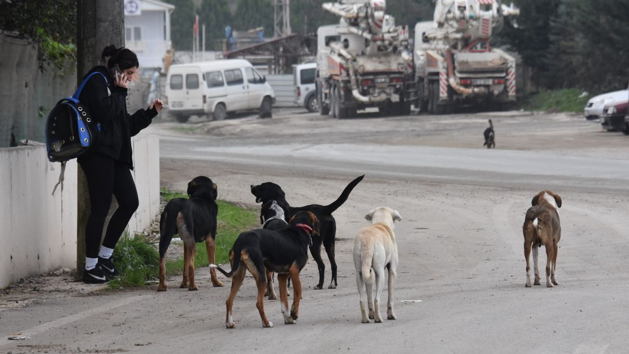
MULTIPOLYGON (((157 291, 166 291, 166 258, 174 234, 184 241, 184 278, 180 288, 198 290, 194 282, 194 256, 196 243, 205 241, 209 263, 214 263, 216 253, 216 214, 218 205, 216 185, 205 176, 195 177, 188 183, 189 199, 174 198, 166 204, 160 219, 159 240, 159 287, 157 291)), ((209 271, 214 287, 222 287, 223 283, 216 277, 216 270, 209 271)))

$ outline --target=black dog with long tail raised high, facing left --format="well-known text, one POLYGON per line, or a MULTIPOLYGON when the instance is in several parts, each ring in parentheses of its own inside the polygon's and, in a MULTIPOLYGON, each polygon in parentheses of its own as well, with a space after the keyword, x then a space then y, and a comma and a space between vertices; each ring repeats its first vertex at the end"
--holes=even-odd
POLYGON ((251 193, 255 195, 256 203, 266 203, 269 202, 269 200, 276 200, 280 206, 288 208, 290 215, 295 215, 300 211, 308 211, 315 214, 317 219, 321 222, 320 235, 313 237, 313 244, 310 246, 310 253, 313 255, 317 267, 319 268, 319 283, 315 286, 315 289, 323 288, 323 278, 325 277, 325 265, 321 259, 321 243, 323 243, 325 247, 328 259, 330 260, 330 267, 332 268, 332 280, 328 288, 332 289, 337 287, 337 262, 334 260, 334 241, 337 236, 337 222, 332 216, 332 213, 345 203, 353 188, 358 185, 364 177, 365 175, 363 174, 350 182, 335 202, 325 206, 311 204, 304 207, 291 207, 286 201, 286 194, 282 188, 275 183, 265 182, 261 185, 251 186, 251 193))

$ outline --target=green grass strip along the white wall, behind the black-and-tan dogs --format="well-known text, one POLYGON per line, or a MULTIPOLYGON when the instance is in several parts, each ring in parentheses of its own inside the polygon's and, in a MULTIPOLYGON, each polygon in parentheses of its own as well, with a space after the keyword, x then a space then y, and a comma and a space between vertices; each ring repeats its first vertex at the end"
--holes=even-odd
MULTIPOLYGON (((168 202, 173 198, 187 198, 185 193, 162 188, 161 197, 168 202)), ((217 200, 218 224, 216 231, 216 263, 226 263, 229 251, 241 232, 258 227, 257 211, 243 208, 233 203, 217 200)), ((177 237, 176 235, 174 237, 177 237)), ((172 243, 171 243, 172 247, 172 243)), ((153 244, 147 243, 144 236, 123 237, 116 245, 113 261, 120 270, 120 278, 111 280, 109 288, 139 287, 149 280, 156 280, 159 275, 159 253, 153 244)), ((194 266, 207 266, 208 252, 205 243, 198 243, 194 266)), ((167 275, 181 274, 184 260, 166 262, 167 275)))

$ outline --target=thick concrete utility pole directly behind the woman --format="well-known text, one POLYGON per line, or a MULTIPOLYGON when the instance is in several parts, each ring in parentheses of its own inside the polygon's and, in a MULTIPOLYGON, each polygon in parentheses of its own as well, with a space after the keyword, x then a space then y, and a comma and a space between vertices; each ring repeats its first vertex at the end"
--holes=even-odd
MULTIPOLYGON (((125 45, 124 0, 77 0, 77 86, 92 67, 101 64, 103 49, 125 45)), ((79 166, 77 193, 77 275, 85 267, 85 226, 89 216, 89 194, 85 174, 79 166)), ((115 203, 115 202, 114 202, 115 203)))

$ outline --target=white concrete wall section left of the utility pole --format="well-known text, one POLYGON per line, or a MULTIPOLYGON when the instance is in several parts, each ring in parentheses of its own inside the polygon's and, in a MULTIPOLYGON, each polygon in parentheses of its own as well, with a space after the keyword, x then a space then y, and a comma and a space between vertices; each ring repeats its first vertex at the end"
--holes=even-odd
POLYGON ((77 164, 49 163, 44 146, 0 149, 0 288, 19 278, 76 266, 77 164))

